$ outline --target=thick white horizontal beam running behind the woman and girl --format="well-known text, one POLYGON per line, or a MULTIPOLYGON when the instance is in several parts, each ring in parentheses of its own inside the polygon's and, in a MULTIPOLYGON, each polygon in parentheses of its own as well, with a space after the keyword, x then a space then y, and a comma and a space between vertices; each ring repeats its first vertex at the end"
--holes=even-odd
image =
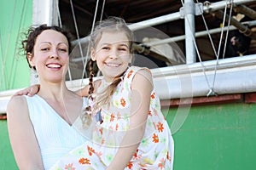
MULTIPOLYGON (((213 81, 216 60, 151 69, 154 86, 160 99, 180 99, 207 96, 209 88, 202 71, 213 81)), ((214 92, 217 94, 241 94, 256 92, 256 54, 218 60, 214 92)), ((69 81, 67 87, 76 90, 88 83, 88 79, 69 81)), ((11 95, 20 89, 0 92, 0 113, 5 113, 11 95)))

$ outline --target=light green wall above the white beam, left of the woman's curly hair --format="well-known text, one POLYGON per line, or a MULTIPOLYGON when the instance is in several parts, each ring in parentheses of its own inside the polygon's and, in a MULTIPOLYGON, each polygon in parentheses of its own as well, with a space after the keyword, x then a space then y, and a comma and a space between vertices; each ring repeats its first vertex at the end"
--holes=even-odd
POLYGON ((32 0, 0 1, 0 91, 30 83, 25 56, 20 56, 20 33, 32 25, 32 0))

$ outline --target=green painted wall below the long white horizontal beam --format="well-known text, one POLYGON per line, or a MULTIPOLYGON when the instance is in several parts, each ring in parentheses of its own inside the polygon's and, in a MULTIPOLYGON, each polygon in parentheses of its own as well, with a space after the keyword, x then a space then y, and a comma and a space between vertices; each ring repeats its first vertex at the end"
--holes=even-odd
MULTIPOLYGON (((172 126, 177 108, 165 110, 172 126)), ((256 104, 194 106, 173 134, 175 170, 254 169, 256 104)), ((0 170, 15 170, 6 121, 0 122, 0 170)))

